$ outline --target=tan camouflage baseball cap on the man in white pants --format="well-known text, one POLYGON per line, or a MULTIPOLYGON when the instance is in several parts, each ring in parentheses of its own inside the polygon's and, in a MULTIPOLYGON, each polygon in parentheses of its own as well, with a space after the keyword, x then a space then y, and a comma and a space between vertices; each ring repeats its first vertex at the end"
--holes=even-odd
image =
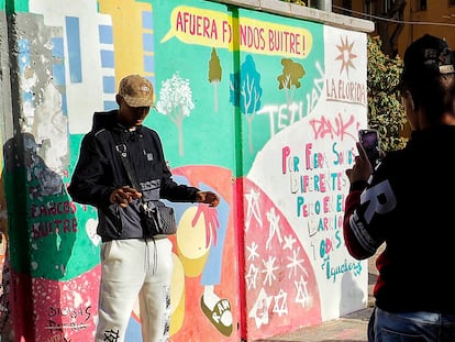
POLYGON ((129 75, 119 85, 119 95, 130 107, 151 107, 153 104, 153 85, 140 75, 129 75))

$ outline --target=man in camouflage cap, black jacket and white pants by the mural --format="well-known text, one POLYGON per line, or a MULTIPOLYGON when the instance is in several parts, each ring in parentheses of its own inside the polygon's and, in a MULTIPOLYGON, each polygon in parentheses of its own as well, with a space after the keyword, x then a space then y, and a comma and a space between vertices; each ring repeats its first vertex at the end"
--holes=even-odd
POLYGON ((168 341, 171 242, 144 233, 141 200, 164 198, 210 207, 220 201, 214 192, 173 180, 158 134, 143 125, 153 99, 153 86, 144 77, 130 75, 120 81, 115 97, 119 109, 95 113, 68 187, 75 201, 98 210, 97 232, 102 245, 96 341, 109 337, 124 341, 137 296, 143 341, 168 341), (121 153, 126 155, 140 189, 130 180, 121 153))

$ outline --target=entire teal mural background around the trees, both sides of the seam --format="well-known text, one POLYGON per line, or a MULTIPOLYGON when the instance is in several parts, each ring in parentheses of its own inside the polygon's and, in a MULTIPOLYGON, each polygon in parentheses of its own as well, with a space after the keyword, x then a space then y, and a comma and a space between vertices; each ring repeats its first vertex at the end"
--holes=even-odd
MULTIPOLYGON (((202 14, 204 10, 214 11, 215 14, 226 13, 224 5, 196 1, 185 3, 186 10, 192 8, 198 8, 202 14)), ((195 108, 187 117, 182 117, 181 131, 169 115, 156 111, 149 114, 146 123, 160 133, 171 167, 199 164, 199 161, 203 159, 204 164, 228 167, 234 169, 237 177, 244 176, 248 173, 257 152, 274 134, 308 114, 308 89, 313 89, 314 80, 321 78, 314 66, 318 62, 323 65, 323 44, 319 43, 323 41, 323 25, 240 10, 241 23, 256 21, 264 26, 276 24, 308 30, 313 40, 312 49, 306 58, 293 58, 286 54, 270 55, 259 49, 244 51, 238 41, 234 45, 234 51, 230 51, 228 46, 218 46, 214 49, 222 68, 222 78, 214 88, 214 84, 208 81, 213 46, 203 45, 198 38, 195 38, 195 42, 185 41, 185 36, 181 37, 175 32, 174 35, 169 34, 173 24, 169 18, 175 9, 175 4, 170 2, 154 8, 157 101, 162 99, 163 85, 178 75, 188 81, 195 108), (163 41, 164 37, 168 40, 163 41), (306 70, 299 88, 279 89, 277 77, 282 74, 282 58, 292 59, 306 70), (236 74, 238 70, 240 75, 236 74), (244 103, 249 103, 251 99, 242 98, 240 95, 244 90, 242 87, 245 86, 246 79, 253 79, 255 88, 260 93, 257 106, 249 106, 247 110, 244 103), (289 98, 292 103, 300 106, 298 118, 292 117, 293 121, 284 120, 279 112, 287 106, 289 98), (218 111, 214 110, 215 100, 218 111), (263 112, 257 113, 260 110, 263 112), (236 161, 241 161, 241 167, 236 161)), ((230 18, 237 15, 235 12, 228 13, 230 18)), ((234 20, 232 23, 234 36, 240 34, 236 25, 238 21, 234 20)), ((220 21, 217 21, 217 25, 220 25, 220 21)))

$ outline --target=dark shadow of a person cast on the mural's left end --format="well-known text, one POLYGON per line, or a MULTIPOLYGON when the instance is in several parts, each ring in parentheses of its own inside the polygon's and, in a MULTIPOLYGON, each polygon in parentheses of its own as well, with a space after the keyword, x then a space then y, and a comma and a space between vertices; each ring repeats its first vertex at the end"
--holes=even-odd
MULTIPOLYGON (((15 338, 23 334, 45 341, 47 337, 38 331, 55 337, 64 331, 65 317, 70 316, 56 280, 67 274, 77 223, 64 181, 46 166, 40 147, 31 133, 21 133, 3 145, 1 184, 9 227, 9 268, 3 267, 3 280, 11 278, 14 284, 5 307, 11 310, 15 338)), ((2 306, 5 296, 7 291, 2 306)))

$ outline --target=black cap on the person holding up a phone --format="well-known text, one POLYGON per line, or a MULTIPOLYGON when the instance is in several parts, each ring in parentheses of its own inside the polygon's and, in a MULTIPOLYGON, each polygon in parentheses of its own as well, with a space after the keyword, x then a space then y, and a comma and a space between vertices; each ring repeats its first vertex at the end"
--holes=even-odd
POLYGON ((401 85, 426 77, 455 74, 455 59, 445 40, 425 34, 404 52, 401 85))

